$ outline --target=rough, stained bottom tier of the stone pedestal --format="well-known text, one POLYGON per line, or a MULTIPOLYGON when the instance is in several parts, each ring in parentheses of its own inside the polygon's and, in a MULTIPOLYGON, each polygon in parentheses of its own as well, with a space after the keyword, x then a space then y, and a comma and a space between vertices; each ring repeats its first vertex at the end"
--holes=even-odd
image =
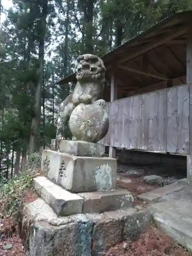
POLYGON ((125 221, 129 228, 132 219, 137 222, 136 214, 137 210, 130 208, 59 217, 39 198, 25 206, 20 236, 29 246, 30 256, 99 256, 123 241, 125 221))

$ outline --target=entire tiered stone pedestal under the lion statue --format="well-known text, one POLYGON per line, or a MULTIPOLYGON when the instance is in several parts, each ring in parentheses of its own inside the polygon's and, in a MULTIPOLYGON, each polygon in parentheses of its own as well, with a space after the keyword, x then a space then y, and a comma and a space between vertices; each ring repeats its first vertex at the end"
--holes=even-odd
POLYGON ((98 256, 121 242, 123 233, 135 233, 140 216, 134 198, 127 189, 116 189, 117 161, 101 157, 103 145, 61 140, 59 150, 42 152, 46 177, 34 178, 41 199, 24 209, 24 242, 30 256, 98 256))

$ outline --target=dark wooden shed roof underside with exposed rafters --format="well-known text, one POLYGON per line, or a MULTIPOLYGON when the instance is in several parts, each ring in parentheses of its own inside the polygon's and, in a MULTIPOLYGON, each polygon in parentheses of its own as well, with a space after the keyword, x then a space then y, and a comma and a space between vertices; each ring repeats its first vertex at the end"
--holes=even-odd
MULTIPOLYGON (((106 67, 106 79, 110 80, 114 74, 118 91, 125 97, 132 95, 130 92, 133 90, 153 84, 170 81, 171 86, 178 79, 184 83, 186 32, 191 21, 192 11, 173 14, 103 55, 101 58, 106 67)), ((55 84, 75 80, 75 74, 72 74, 55 84)))

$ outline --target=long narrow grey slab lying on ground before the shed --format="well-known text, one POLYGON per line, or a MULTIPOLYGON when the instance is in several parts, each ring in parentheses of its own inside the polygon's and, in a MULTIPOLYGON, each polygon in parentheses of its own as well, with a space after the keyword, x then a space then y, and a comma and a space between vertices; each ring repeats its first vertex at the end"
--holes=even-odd
POLYGON ((156 188, 150 192, 143 193, 138 196, 139 199, 147 202, 151 202, 157 199, 160 199, 161 197, 173 193, 175 191, 181 190, 184 188, 183 183, 175 182, 170 185, 164 186, 164 187, 159 187, 156 188))

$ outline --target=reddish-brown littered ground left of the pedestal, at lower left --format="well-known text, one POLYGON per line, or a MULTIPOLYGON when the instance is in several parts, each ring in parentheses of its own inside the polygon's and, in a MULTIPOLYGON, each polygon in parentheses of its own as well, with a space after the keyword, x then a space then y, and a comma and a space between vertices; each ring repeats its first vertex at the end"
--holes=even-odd
MULTIPOLYGON (((37 199, 37 194, 26 191, 25 203, 33 202, 37 199)), ((0 256, 26 256, 22 240, 18 236, 18 221, 10 217, 0 219, 0 256), (4 250, 4 245, 12 244, 11 250, 4 250)))

